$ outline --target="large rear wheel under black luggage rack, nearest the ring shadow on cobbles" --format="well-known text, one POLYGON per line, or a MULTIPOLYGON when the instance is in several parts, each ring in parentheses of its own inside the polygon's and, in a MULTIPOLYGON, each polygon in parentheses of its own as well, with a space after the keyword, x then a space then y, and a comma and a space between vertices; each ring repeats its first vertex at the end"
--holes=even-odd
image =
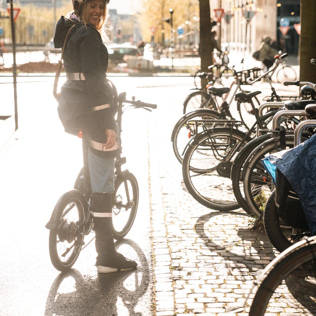
POLYGON ((230 128, 214 128, 201 133, 185 152, 182 174, 193 198, 213 210, 236 210, 239 204, 230 179, 231 165, 245 134, 230 128))

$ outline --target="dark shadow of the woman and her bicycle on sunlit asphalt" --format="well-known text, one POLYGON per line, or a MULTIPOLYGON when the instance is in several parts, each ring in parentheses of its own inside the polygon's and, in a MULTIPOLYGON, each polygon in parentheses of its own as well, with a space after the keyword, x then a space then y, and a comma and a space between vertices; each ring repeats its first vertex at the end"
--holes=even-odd
POLYGON ((143 295, 150 301, 147 292, 150 280, 149 265, 142 249, 132 240, 116 242, 116 248, 128 245, 135 251, 137 270, 82 276, 71 269, 60 273, 49 291, 45 316, 116 316, 119 314, 141 316, 143 313, 143 295), (147 293, 146 293, 147 292, 147 293), (135 307, 139 303, 140 307, 135 307))

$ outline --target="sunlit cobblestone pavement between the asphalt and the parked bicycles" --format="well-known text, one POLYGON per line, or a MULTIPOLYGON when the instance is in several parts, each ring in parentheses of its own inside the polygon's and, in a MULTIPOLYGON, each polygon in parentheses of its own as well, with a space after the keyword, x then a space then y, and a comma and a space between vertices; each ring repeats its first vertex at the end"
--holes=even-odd
MULTIPOLYGON (((210 210, 186 191, 170 142, 181 116, 170 89, 149 131, 156 315, 248 315, 252 282, 278 253, 244 211, 210 210)), ((277 298, 271 316, 312 315, 286 287, 277 298)))

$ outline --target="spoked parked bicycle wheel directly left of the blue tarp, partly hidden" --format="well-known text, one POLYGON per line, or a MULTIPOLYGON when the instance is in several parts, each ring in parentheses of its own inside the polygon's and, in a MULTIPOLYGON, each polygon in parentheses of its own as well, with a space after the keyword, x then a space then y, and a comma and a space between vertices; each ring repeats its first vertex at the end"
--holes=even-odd
MULTIPOLYGON (((286 136, 286 147, 293 148, 294 146, 294 137, 293 135, 286 136)), ((263 167, 261 159, 272 153, 274 150, 281 150, 280 148, 280 138, 278 137, 275 140, 268 139, 264 143, 260 144, 258 147, 260 149, 256 150, 256 153, 247 161, 245 162, 245 173, 244 173, 244 192, 245 198, 249 205, 250 210, 252 213, 258 216, 258 213, 262 213, 264 210, 264 206, 268 199, 267 194, 271 194, 273 191, 274 185, 272 183, 272 179, 269 173, 263 167), (278 146, 276 148, 276 145, 278 146), (252 192, 251 185, 258 184, 261 186, 261 190, 252 192), (270 189, 270 191, 269 191, 270 189), (257 199, 257 201, 256 201, 257 199)))

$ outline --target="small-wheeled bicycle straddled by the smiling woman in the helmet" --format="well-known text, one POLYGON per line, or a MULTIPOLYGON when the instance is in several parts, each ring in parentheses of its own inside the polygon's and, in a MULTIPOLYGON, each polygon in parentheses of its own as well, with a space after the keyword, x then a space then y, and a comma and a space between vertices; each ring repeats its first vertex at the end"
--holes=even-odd
MULTIPOLYGON (((119 94, 117 123, 118 141, 121 145, 122 115, 129 108, 143 108, 151 112, 157 105, 126 100, 126 93, 119 94), (129 106, 124 108, 124 104, 129 106)), ((92 194, 88 169, 88 137, 78 131, 82 138, 83 168, 75 181, 74 190, 64 193, 58 200, 50 221, 46 224, 49 233, 49 254, 53 266, 59 271, 69 270, 76 262, 85 245, 84 237, 93 229, 92 215, 89 210, 89 198, 92 194)), ((137 213, 139 189, 136 177, 128 170, 122 171, 126 158, 121 155, 115 160, 114 192, 112 194, 112 235, 122 239, 130 231, 137 213)), ((93 240, 93 239, 92 239, 93 240)), ((91 240, 91 241, 92 241, 91 240)), ((90 241, 90 242, 91 242, 90 241)), ((89 243, 90 243, 89 242, 89 243)))

